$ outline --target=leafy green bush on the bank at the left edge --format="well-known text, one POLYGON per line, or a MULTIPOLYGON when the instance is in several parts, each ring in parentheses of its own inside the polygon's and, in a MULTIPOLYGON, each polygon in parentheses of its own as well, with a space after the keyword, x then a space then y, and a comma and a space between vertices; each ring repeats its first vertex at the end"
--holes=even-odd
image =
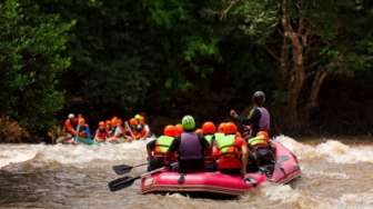
POLYGON ((34 132, 46 131, 63 104, 56 76, 70 64, 67 32, 57 14, 46 14, 32 1, 0 4, 0 111, 34 132))

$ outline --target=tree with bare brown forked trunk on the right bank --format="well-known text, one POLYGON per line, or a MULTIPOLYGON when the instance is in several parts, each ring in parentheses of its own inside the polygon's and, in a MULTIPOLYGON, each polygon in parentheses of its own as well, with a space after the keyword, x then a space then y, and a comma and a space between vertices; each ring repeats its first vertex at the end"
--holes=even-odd
POLYGON ((354 0, 231 0, 223 4, 220 18, 232 11, 239 27, 278 61, 288 92, 288 122, 292 128, 302 128, 312 109, 319 107, 327 76, 349 69, 345 66, 353 50, 345 38, 352 38, 353 44, 361 42, 349 27, 361 27, 370 20, 367 13, 356 19, 362 7, 369 6, 354 0), (344 34, 346 30, 350 33, 344 34))

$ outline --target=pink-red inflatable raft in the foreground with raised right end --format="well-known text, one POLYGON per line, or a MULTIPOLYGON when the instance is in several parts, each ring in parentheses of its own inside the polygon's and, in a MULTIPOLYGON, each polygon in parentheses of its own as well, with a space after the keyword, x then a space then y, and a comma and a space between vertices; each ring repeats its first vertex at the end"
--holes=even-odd
POLYGON ((276 162, 270 178, 262 172, 242 176, 216 172, 195 172, 185 175, 183 183, 178 183, 179 172, 164 169, 142 177, 142 193, 151 192, 204 192, 228 196, 240 196, 251 192, 265 180, 276 183, 288 183, 300 177, 301 170, 296 157, 280 142, 273 141, 276 162))

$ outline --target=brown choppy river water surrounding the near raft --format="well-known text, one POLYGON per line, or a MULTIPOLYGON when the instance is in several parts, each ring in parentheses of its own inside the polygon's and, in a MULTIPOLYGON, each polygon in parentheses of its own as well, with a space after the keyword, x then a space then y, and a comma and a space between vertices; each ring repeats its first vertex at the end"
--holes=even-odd
MULTIPOLYGON (((140 193, 140 182, 110 192, 111 167, 145 159, 145 141, 121 145, 0 145, 0 208, 373 208, 373 140, 280 136, 299 157, 302 177, 265 183, 234 200, 140 193)), ((134 169, 139 175, 145 168, 134 169)))

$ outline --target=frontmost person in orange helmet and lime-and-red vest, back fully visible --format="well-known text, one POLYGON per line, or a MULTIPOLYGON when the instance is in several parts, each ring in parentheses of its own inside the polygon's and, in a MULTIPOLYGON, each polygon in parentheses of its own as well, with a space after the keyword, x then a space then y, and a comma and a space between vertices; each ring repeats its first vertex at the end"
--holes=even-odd
POLYGON ((223 126, 224 136, 214 139, 213 155, 218 162, 218 170, 224 173, 246 173, 248 147, 233 122, 223 126))

